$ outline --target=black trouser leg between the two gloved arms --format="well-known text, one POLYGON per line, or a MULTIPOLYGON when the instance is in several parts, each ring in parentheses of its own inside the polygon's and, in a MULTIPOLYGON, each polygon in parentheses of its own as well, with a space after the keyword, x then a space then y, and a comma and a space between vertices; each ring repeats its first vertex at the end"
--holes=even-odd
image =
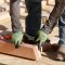
POLYGON ((26 34, 36 36, 41 25, 41 2, 26 0, 28 15, 26 17, 26 34))

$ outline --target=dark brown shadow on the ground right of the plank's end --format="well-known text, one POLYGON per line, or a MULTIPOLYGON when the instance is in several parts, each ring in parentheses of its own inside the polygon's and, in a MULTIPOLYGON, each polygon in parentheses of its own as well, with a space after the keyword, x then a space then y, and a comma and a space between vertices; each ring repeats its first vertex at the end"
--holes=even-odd
POLYGON ((42 56, 46 56, 46 57, 49 57, 50 60, 53 60, 53 61, 60 61, 60 62, 65 62, 65 53, 61 52, 61 51, 57 51, 60 49, 60 47, 57 44, 52 44, 52 48, 49 50, 49 51, 44 51, 42 53, 42 56), (63 56, 63 60, 58 60, 57 58, 57 55, 62 55, 63 56))

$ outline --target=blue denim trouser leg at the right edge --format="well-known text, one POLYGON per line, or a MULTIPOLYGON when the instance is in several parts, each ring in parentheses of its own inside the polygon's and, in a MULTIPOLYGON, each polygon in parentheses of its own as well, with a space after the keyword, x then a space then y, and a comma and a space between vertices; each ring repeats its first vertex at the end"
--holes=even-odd
POLYGON ((58 21, 58 29, 60 29, 60 44, 65 44, 65 12, 61 16, 58 21))

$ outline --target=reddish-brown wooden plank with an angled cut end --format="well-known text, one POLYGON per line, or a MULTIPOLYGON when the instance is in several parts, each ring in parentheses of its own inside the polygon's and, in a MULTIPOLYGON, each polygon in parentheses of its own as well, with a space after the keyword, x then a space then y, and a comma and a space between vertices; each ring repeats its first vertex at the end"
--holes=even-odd
POLYGON ((2 40, 0 40, 0 53, 29 60, 39 60, 41 57, 37 46, 23 43, 20 48, 15 49, 13 43, 2 40))

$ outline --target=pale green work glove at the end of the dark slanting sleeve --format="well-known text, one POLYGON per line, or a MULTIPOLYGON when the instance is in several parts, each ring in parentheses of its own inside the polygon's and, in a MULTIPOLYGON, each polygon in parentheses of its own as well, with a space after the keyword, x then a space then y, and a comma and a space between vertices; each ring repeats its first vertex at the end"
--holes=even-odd
POLYGON ((37 38, 37 41, 40 41, 40 46, 42 44, 42 43, 44 43, 46 42, 46 40, 48 39, 48 35, 46 34, 46 32, 43 32, 42 30, 39 30, 38 31, 38 38, 37 38))

